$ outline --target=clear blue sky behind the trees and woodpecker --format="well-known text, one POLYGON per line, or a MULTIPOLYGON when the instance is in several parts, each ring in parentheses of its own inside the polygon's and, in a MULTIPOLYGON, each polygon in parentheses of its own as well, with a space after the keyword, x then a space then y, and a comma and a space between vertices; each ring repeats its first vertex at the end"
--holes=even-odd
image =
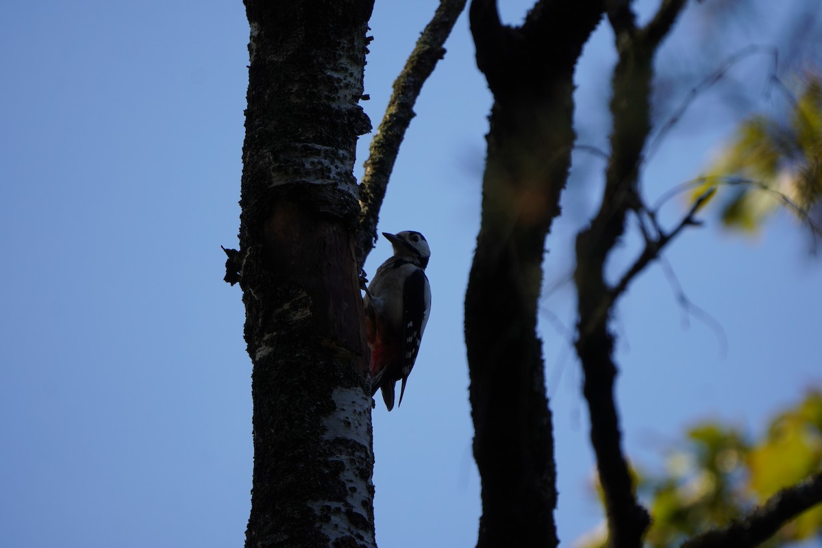
MULTIPOLYGON (((520 21, 528 2, 504 3, 506 20, 520 21)), ((375 127, 435 6, 377 2, 364 104, 375 127)), ((734 44, 775 40, 783 27, 768 21, 736 21, 734 44)), ((694 9, 660 62, 687 64, 700 25, 694 9)), ((242 544, 252 477, 251 364, 240 291, 222 281, 219 246, 237 245, 247 34, 242 2, 6 7, 2 546, 242 544)), ((580 142, 602 148, 610 43, 603 25, 577 77, 580 142)), ((433 291, 403 405, 374 412, 381 546, 473 546, 480 513, 462 304, 491 97, 473 64, 464 16, 447 48, 418 101, 381 214, 381 230, 419 230, 431 242, 433 291)), ((737 75, 763 106, 766 66, 752 59, 737 75)), ((648 195, 694 177, 732 122, 730 109, 709 95, 698 99, 649 164, 648 195)), ((596 205, 602 168, 600 159, 575 154, 566 217, 547 242, 547 286, 572 268, 570 244, 596 205)), ((674 200, 664 220, 679 215, 674 200)), ((378 243, 369 272, 389 247, 378 243)), ((629 241, 611 265, 615 275, 635 250, 629 241)), ((690 300, 722 326, 727 352, 715 329, 693 318, 683 325, 658 266, 630 288, 616 320, 618 396, 626 447, 649 466, 695 420, 721 417, 757 431, 770 413, 822 385, 815 344, 822 271, 792 219, 779 216, 753 239, 709 223, 683 234, 666 256, 690 300)), ((551 320, 570 327, 573 305, 562 284, 545 299, 541 321, 564 546, 601 518, 589 489, 580 372, 551 320)))

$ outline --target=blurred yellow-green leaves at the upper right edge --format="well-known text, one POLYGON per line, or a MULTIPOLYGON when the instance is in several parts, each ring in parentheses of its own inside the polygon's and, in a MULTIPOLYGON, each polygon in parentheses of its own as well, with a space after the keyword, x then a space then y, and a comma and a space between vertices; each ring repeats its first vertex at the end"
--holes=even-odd
POLYGON ((807 73, 793 87, 787 110, 741 122, 691 194, 695 200, 711 187, 730 187, 720 192, 728 228, 755 232, 780 205, 820 221, 822 76, 807 73))

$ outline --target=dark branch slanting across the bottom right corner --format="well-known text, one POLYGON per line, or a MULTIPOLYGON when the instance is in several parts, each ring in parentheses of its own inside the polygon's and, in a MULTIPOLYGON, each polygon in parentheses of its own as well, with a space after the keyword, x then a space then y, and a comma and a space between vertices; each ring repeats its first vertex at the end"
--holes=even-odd
POLYGON ((760 545, 782 527, 816 504, 822 503, 822 472, 787 487, 745 518, 723 529, 709 531, 690 539, 682 548, 752 548, 760 545))

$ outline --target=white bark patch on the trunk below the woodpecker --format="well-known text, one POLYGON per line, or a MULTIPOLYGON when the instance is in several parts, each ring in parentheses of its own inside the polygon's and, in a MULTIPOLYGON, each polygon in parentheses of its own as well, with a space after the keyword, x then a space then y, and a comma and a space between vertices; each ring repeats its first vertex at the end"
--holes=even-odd
POLYGON ((342 463, 342 471, 339 474, 339 481, 345 486, 346 500, 344 503, 329 500, 316 500, 309 505, 314 509, 321 519, 321 531, 328 536, 330 544, 339 538, 353 537, 358 539, 361 546, 373 546, 376 548, 376 541, 373 536, 363 538, 363 527, 351 523, 349 513, 358 513, 363 519, 368 521, 365 509, 370 509, 372 502, 370 492, 372 489, 371 477, 362 477, 358 474, 358 469, 370 466, 368 463, 359 463, 358 455, 351 452, 352 445, 360 445, 370 448, 371 440, 369 435, 368 412, 370 411, 371 398, 362 389, 335 389, 333 394, 336 409, 323 420, 326 431, 323 439, 331 442, 335 449, 339 449, 339 454, 331 461, 342 463), (335 444, 339 440, 350 440, 355 444, 335 444))

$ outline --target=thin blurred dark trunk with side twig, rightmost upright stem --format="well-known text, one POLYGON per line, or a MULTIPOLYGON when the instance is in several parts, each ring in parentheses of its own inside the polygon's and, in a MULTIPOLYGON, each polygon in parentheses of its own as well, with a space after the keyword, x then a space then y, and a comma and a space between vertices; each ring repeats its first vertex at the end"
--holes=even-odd
POLYGON ((667 242, 695 223, 693 214, 704 203, 695 206, 681 225, 667 234, 659 228, 653 215, 649 215, 652 234, 640 216, 646 247, 621 283, 616 288, 608 287, 605 265, 625 233, 627 214, 635 211, 641 215, 648 211, 641 200, 638 181, 642 153, 651 131, 653 58, 685 1, 663 0, 652 24, 640 32, 635 31, 630 1, 611 0, 607 5, 619 52, 612 78, 611 157, 600 209, 589 228, 580 232, 576 240, 574 279, 579 312, 579 338, 575 346, 585 375, 583 392, 589 406, 591 444, 603 486, 611 548, 640 548, 650 517, 636 499, 630 469, 622 452, 614 394, 617 376, 614 335, 608 319, 616 297, 625 291, 630 280, 658 256, 667 242))

